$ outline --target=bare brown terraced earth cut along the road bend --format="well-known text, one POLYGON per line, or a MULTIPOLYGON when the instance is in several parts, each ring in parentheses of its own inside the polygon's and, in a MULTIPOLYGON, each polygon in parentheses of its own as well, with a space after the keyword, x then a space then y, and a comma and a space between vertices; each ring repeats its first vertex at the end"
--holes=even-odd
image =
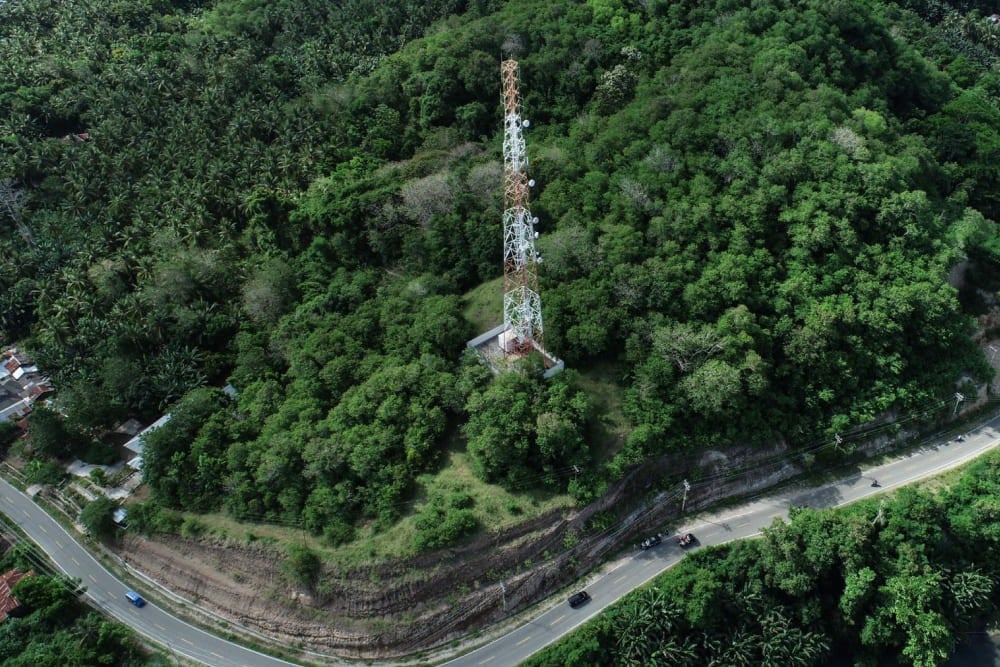
MULTIPOLYGON (((313 591, 288 584, 281 574, 285 553, 273 545, 130 537, 120 555, 198 607, 281 644, 367 659, 401 657, 509 618, 627 549, 639 535, 679 518, 676 494, 654 493, 668 472, 700 468, 708 476, 752 466, 778 452, 741 449, 690 460, 664 457, 631 470, 585 508, 552 510, 505 531, 409 559, 353 571, 327 569, 313 591), (600 530, 591 522, 599 513, 613 517, 600 530)), ((695 488, 687 509, 797 472, 776 465, 720 478, 695 488)))

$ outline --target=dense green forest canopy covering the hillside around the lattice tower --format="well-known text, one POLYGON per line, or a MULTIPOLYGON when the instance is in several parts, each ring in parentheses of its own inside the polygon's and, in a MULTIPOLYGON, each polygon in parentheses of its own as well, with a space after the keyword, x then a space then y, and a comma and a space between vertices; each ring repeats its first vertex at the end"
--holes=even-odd
POLYGON ((948 275, 1000 261, 1000 109, 902 4, 5 3, 0 336, 74 433, 174 413, 160 502, 317 533, 388 525, 456 441, 587 498, 581 469, 916 409, 989 377, 948 275), (462 354, 502 272, 500 53, 551 382, 462 354))

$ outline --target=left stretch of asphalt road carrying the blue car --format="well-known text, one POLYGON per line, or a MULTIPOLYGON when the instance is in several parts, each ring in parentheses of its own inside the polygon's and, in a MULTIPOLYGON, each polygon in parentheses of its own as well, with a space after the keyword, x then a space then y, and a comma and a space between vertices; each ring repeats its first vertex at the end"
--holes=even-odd
MULTIPOLYGON (((20 526, 63 572, 79 577, 86 597, 153 642, 211 667, 287 667, 293 663, 220 639, 171 616, 147 601, 141 609, 125 599, 128 587, 118 581, 80 546, 66 529, 31 498, 0 479, 0 512, 20 526)), ((138 590, 140 595, 142 590, 138 590)), ((144 596, 145 597, 145 596, 144 596)))

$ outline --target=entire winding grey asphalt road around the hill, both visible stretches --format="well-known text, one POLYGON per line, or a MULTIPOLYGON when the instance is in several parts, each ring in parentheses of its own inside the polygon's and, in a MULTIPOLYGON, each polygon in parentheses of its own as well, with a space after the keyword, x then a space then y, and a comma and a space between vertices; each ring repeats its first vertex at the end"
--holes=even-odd
MULTIPOLYGON (((959 440, 927 445, 862 473, 813 489, 785 491, 760 498, 723 514, 699 516, 681 532, 692 532, 699 545, 723 544, 753 537, 775 518, 787 517, 792 506, 833 507, 908 484, 966 463, 1000 444, 1000 417, 959 440), (879 485, 872 486, 877 479, 879 485)), ((117 620, 170 651, 211 667, 277 667, 293 663, 226 641, 171 616, 155 603, 142 609, 125 599, 127 586, 108 572, 59 523, 28 496, 0 479, 0 512, 6 514, 45 551, 56 565, 87 586, 87 597, 117 620)), ((697 547, 690 547, 697 548, 697 547)), ((683 558, 676 540, 667 539, 648 551, 628 554, 590 578, 592 600, 571 609, 563 599, 544 603, 536 615, 476 650, 447 663, 450 667, 516 665, 566 635, 623 595, 656 577, 683 558)), ((140 591, 142 592, 142 591, 140 591)), ((333 659, 330 659, 333 663, 333 659)))

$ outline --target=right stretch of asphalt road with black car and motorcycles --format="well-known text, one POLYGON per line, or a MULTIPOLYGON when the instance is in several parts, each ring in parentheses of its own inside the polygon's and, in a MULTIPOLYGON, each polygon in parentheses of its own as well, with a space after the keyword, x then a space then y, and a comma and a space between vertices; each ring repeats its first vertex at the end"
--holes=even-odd
MULTIPOLYGON (((867 498, 922 477, 965 463, 1000 444, 1000 417, 965 434, 963 441, 929 445, 890 463, 854 474, 836 483, 809 490, 777 493, 730 508, 720 515, 699 516, 683 525, 679 533, 694 533, 698 545, 723 544, 758 535, 774 519, 787 518, 792 506, 833 507, 867 498), (879 486, 873 487, 877 480, 879 486)), ((688 547, 697 549, 698 546, 688 547)), ((495 641, 444 663, 449 667, 505 667, 516 665, 545 648, 571 630, 599 614, 634 588, 638 588, 684 557, 676 535, 647 551, 636 551, 608 567, 589 581, 586 590, 592 600, 571 609, 565 599, 552 601, 530 621, 495 641)))

